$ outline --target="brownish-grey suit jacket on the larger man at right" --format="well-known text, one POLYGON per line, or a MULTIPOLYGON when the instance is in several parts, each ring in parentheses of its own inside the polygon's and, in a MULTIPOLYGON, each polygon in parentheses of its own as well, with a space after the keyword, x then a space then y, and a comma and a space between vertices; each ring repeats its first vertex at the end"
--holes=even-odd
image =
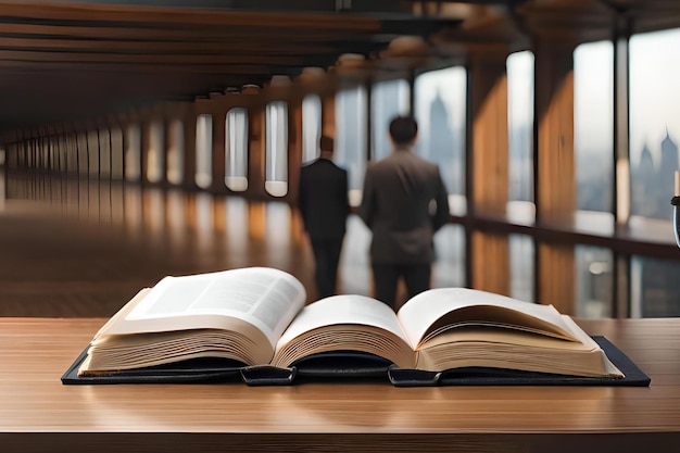
POLYGON ((372 263, 431 263, 433 235, 449 222, 439 166, 408 149, 370 162, 358 214, 373 231, 372 263))

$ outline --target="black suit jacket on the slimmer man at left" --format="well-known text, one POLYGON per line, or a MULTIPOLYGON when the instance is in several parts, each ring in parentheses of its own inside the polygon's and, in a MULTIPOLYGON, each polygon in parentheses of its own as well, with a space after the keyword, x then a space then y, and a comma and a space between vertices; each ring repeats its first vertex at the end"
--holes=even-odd
POLYGON ((342 238, 350 214, 348 172, 324 158, 300 168, 299 207, 311 237, 342 238))

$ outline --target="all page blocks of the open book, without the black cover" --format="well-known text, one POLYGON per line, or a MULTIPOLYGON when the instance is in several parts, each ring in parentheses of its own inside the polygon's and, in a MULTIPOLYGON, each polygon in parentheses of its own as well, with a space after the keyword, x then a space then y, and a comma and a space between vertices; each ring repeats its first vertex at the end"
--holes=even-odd
POLYGON ((200 358, 289 368, 319 354, 358 353, 423 372, 483 367, 624 377, 552 305, 466 288, 431 289, 398 313, 356 294, 305 300, 297 278, 268 267, 165 277, 97 332, 77 376, 200 358))

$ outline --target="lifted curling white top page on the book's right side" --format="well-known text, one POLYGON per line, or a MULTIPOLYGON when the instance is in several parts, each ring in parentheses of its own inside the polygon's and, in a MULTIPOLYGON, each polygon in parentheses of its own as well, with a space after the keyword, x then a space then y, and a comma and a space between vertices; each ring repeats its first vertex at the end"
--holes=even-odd
MULTIPOLYGON (((527 331, 545 331, 559 338, 578 341, 562 315, 552 305, 522 302, 505 295, 468 288, 437 288, 414 297, 398 313, 399 322, 417 350, 426 334, 442 316, 462 310, 478 307, 477 312, 494 313, 503 317, 503 327, 519 326, 527 331), (521 326, 531 326, 524 328, 521 326)), ((459 325, 484 325, 483 318, 462 322, 459 325)), ((492 325, 494 323, 488 323, 492 325)), ((495 323, 498 324, 498 323, 495 323)))

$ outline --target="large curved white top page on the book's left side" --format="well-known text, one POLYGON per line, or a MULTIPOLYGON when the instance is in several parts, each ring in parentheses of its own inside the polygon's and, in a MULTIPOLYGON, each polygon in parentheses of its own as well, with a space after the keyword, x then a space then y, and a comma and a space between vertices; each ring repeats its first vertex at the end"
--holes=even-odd
POLYGON ((227 329, 236 318, 262 330, 274 347, 305 300, 297 278, 269 267, 168 276, 100 335, 227 329))

